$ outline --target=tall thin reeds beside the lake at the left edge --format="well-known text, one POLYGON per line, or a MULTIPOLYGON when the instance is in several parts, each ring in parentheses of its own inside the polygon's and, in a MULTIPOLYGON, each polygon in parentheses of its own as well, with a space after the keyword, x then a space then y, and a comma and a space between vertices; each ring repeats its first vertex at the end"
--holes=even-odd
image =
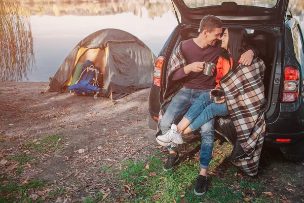
POLYGON ((0 0, 0 81, 27 78, 34 63, 28 13, 9 0, 0 0))

